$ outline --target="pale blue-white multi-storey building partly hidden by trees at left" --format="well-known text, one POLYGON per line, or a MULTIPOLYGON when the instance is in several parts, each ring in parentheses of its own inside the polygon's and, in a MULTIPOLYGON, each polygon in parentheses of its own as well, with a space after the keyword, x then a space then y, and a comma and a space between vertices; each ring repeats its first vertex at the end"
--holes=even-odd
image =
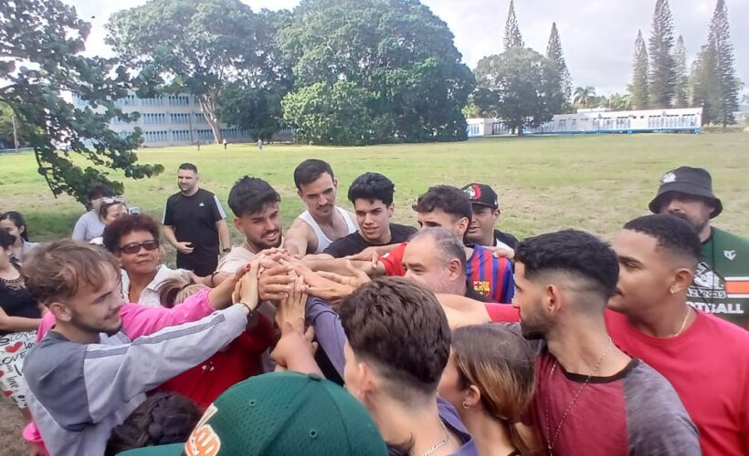
MULTIPOLYGON (((77 95, 73 95, 73 104, 77 108, 85 107, 88 103, 77 95)), ((214 142, 206 116, 200 110, 197 98, 192 95, 166 95, 156 98, 138 98, 130 94, 116 101, 116 106, 123 112, 140 112, 141 117, 132 123, 112 119, 110 128, 122 137, 133 132, 135 127, 143 130, 142 147, 187 146, 200 142, 210 144, 214 142)), ((251 142, 248 131, 239 130, 224 124, 220 125, 221 134, 228 142, 251 142)), ((290 130, 281 130, 278 140, 291 137, 290 130)))

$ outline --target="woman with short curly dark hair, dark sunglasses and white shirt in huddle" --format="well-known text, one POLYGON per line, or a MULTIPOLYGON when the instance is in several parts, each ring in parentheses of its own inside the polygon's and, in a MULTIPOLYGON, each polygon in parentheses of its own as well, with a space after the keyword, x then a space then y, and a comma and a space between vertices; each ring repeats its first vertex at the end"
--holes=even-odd
POLYGON ((126 302, 161 306, 159 289, 166 280, 175 277, 207 285, 206 278, 161 264, 159 225, 148 215, 117 217, 104 229, 102 241, 104 247, 120 260, 122 296, 126 302))

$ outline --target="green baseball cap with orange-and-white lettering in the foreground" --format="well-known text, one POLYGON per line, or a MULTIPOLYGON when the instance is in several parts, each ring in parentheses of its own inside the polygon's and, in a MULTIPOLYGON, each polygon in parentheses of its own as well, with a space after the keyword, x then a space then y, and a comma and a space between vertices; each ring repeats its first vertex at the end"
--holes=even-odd
POLYGON ((320 376, 278 372, 224 391, 185 443, 120 455, 300 453, 387 455, 387 447, 369 412, 348 391, 320 376))

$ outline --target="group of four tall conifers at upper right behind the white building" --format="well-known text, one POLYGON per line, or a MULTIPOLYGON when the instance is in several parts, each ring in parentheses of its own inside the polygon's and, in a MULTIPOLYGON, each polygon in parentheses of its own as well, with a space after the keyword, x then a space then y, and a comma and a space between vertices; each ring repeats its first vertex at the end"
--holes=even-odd
POLYGON ((702 106, 703 121, 734 123, 741 81, 733 65, 733 45, 725 0, 712 14, 707 42, 687 74, 687 49, 674 26, 668 0, 657 0, 649 45, 638 30, 635 40, 630 103, 636 109, 702 106))

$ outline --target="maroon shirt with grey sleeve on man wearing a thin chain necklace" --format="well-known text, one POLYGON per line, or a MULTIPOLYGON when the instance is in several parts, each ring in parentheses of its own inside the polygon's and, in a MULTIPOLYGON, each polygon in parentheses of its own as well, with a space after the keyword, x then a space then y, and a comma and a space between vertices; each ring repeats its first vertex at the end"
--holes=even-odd
MULTIPOLYGON (((510 326, 520 331, 519 324, 510 326)), ((551 440, 554 454, 702 454, 676 391, 644 362, 633 358, 617 374, 585 384, 588 376, 566 372, 545 341, 531 343, 539 381, 523 421, 538 430, 544 449, 551 440)))

